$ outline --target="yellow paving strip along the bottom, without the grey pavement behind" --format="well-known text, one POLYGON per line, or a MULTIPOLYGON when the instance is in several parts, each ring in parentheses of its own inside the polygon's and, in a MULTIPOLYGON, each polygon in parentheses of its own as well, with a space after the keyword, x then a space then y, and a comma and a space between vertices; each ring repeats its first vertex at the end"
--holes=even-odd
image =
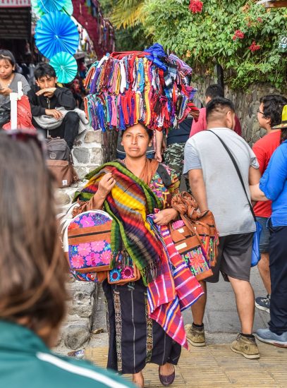
MULTIPOLYGON (((207 336, 207 341, 209 337, 207 336)), ((287 351, 259 343, 261 358, 247 360, 233 353, 229 344, 210 344, 204 348, 183 349, 176 367, 176 380, 171 387, 287 387, 287 351)), ((86 357, 106 367, 107 348, 87 348, 86 357)), ((144 370, 145 387, 162 387, 158 366, 149 364, 144 370)), ((128 380, 131 377, 126 375, 128 380)))

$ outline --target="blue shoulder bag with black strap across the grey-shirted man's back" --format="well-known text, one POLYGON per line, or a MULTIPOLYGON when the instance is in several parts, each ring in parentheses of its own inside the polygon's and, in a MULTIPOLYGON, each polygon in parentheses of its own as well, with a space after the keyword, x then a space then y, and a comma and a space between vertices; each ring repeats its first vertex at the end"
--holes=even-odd
POLYGON ((252 256, 251 256, 251 267, 255 267, 255 265, 257 265, 259 260, 261 259, 261 254, 260 254, 260 250, 259 250, 259 241, 260 241, 260 235, 261 235, 261 232, 262 232, 262 226, 259 224, 259 222, 256 219, 255 212, 254 212, 253 207, 252 207, 252 205, 250 203, 250 200, 249 200, 249 197, 248 197, 248 193, 246 192, 246 189, 245 189, 245 186, 244 186, 244 182, 243 182, 243 178, 242 178, 242 175, 240 173, 240 169, 238 167, 238 164, 236 163, 236 159, 233 157, 233 154, 231 154, 231 152, 228 149, 227 145, 219 137, 219 135, 216 135, 216 133, 214 133, 213 131, 210 131, 210 130, 209 130, 209 132, 213 133, 217 138, 219 138, 221 144, 224 146, 226 152, 228 153, 229 157, 231 158, 231 161, 233 162, 233 165, 234 165, 234 167, 236 169, 236 172, 238 174, 238 177, 240 179, 240 183, 241 183, 241 185, 243 187, 244 193, 245 193, 246 198, 248 200, 248 205, 250 207, 250 212, 252 213, 252 217, 253 217, 255 225, 256 225, 256 231, 254 232, 254 235, 253 235, 252 256))

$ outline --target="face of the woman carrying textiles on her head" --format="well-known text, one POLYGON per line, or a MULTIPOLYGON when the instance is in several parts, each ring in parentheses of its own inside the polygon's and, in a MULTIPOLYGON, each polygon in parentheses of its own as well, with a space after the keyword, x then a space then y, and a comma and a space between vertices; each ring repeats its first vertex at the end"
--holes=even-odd
POLYGON ((149 140, 146 129, 142 125, 136 124, 123 132, 121 145, 123 145, 128 157, 138 158, 145 155, 147 147, 152 145, 152 140, 149 140))

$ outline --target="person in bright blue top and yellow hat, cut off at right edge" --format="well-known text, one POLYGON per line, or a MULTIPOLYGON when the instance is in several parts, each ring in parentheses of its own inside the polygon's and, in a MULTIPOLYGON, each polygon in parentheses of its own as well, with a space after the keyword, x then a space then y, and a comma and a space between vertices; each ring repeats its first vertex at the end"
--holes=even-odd
POLYGON ((258 329, 257 338, 287 348, 287 105, 282 111, 281 145, 274 151, 259 185, 250 186, 252 200, 271 200, 270 231, 270 322, 258 329))

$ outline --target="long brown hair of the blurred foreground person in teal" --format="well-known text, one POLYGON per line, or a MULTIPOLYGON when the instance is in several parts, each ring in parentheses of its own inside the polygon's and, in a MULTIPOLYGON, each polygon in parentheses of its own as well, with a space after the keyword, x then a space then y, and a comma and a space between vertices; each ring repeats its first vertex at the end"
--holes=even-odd
POLYGON ((49 345, 65 314, 68 271, 52 178, 35 140, 0 133, 0 180, 0 319, 22 320, 49 345))

